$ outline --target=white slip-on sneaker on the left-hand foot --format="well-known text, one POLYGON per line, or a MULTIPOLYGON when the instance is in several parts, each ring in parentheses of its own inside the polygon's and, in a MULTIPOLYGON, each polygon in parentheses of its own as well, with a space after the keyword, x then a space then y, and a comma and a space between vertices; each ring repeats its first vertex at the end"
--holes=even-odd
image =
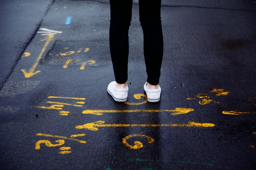
POLYGON ((128 96, 128 86, 127 89, 117 89, 115 85, 115 81, 109 83, 108 93, 113 97, 114 101, 126 102, 128 96))

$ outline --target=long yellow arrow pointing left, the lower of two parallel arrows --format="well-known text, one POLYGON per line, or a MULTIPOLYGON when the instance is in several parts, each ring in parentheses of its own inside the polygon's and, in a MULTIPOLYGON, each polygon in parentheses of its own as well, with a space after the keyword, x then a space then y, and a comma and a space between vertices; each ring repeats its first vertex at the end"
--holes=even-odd
POLYGON ((76 126, 76 129, 88 129, 91 131, 97 131, 96 127, 213 127, 215 126, 213 123, 196 123, 193 121, 188 122, 187 124, 103 124, 105 121, 96 121, 94 123, 87 123, 84 125, 76 126))

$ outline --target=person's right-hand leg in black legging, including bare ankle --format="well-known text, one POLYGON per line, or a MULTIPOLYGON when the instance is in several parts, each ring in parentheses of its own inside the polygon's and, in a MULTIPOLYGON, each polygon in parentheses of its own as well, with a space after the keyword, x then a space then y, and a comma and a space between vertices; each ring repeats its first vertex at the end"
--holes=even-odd
POLYGON ((163 57, 161 0, 139 0, 139 6, 148 87, 157 89, 163 57))

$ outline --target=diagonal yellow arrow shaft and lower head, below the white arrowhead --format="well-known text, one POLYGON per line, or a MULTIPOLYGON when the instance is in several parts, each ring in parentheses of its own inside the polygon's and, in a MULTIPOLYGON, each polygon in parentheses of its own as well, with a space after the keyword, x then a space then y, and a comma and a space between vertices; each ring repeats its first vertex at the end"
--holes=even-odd
POLYGON ((43 52, 46 50, 47 46, 49 45, 49 43, 53 40, 54 34, 49 34, 46 38, 44 38, 41 41, 45 41, 43 50, 41 51, 39 57, 37 58, 37 61, 35 64, 33 64, 33 66, 29 69, 29 71, 27 72, 25 69, 22 69, 21 71, 23 72, 23 74, 25 75, 26 78, 30 78, 32 76, 34 76, 37 73, 40 73, 41 71, 35 71, 36 66, 38 65, 38 63, 40 62, 40 59, 42 58, 43 52))

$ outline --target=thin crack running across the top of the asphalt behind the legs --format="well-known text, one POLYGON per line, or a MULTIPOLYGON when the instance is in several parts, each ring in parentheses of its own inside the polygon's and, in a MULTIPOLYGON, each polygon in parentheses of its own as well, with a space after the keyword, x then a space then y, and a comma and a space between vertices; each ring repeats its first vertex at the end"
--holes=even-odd
MULTIPOLYGON (((99 0, 83 0, 83 1, 91 1, 91 2, 98 2, 98 3, 102 3, 102 4, 109 4, 109 2, 102 2, 99 0)), ((138 4, 138 3, 133 2, 133 4, 138 4)), ((230 8, 221 8, 221 7, 198 7, 198 6, 189 6, 189 5, 161 5, 161 7, 193 7, 193 8, 224 9, 224 10, 249 11, 249 12, 256 11, 256 10, 250 10, 250 9, 230 9, 230 8)))

